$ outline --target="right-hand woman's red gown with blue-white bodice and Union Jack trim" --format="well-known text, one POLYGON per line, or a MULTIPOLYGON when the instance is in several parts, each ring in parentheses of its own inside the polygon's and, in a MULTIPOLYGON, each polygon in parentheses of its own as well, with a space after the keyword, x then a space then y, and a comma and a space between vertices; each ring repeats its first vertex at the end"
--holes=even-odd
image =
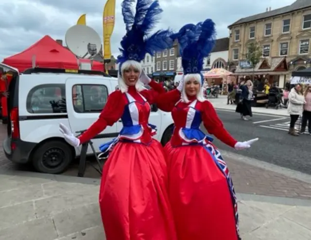
POLYGON ((169 171, 169 198, 178 240, 239 240, 236 194, 223 157, 210 134, 234 147, 208 101, 180 101, 178 90, 157 99, 158 107, 172 111, 174 131, 164 148, 169 171))

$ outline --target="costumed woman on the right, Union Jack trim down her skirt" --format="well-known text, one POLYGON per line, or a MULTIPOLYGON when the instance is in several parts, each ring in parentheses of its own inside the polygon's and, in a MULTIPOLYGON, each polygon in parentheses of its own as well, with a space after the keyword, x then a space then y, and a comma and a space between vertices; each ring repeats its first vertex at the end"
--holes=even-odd
POLYGON ((173 36, 180 44, 183 87, 157 97, 172 112, 173 137, 164 148, 169 169, 169 198, 178 240, 238 240, 237 199, 228 168, 212 137, 237 149, 258 139, 238 142, 225 130, 212 104, 203 97, 203 58, 214 45, 215 27, 207 19, 184 26, 173 36))

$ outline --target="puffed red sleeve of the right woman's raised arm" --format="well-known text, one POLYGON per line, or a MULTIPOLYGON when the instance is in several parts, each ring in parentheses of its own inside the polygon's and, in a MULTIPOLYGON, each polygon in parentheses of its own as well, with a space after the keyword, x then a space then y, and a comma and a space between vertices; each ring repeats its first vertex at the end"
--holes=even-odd
POLYGON ((169 92, 159 94, 155 98, 155 103, 159 109, 164 112, 172 112, 175 104, 180 100, 181 93, 179 90, 174 89, 169 92))

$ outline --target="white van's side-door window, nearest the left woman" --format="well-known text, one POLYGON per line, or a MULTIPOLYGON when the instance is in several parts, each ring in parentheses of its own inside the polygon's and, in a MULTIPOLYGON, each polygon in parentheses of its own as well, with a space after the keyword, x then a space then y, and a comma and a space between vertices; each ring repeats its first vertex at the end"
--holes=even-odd
POLYGON ((72 102, 77 113, 101 112, 108 98, 108 88, 104 85, 74 85, 72 102))

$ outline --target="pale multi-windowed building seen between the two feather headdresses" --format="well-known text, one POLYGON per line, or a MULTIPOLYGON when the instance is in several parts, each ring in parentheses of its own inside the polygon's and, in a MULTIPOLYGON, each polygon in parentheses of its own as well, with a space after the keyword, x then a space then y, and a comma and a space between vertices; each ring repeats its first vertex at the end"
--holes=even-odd
POLYGON ((153 78, 166 80, 176 75, 178 42, 175 41, 171 49, 155 52, 155 71, 153 78))

